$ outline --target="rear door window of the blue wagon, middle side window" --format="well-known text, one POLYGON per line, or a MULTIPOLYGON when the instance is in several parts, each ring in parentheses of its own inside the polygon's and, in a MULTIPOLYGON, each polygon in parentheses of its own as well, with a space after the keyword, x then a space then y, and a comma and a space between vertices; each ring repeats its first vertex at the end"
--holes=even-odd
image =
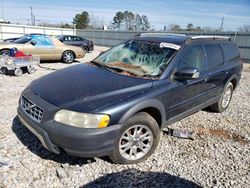
POLYGON ((221 48, 217 44, 205 45, 208 69, 214 69, 224 64, 221 48))

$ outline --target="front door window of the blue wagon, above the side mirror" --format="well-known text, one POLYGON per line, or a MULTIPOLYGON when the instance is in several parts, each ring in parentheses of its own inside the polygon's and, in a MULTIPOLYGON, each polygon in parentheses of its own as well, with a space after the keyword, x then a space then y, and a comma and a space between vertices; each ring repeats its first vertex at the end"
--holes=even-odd
POLYGON ((200 72, 205 70, 205 57, 200 46, 192 46, 186 50, 177 69, 184 68, 196 68, 200 72))

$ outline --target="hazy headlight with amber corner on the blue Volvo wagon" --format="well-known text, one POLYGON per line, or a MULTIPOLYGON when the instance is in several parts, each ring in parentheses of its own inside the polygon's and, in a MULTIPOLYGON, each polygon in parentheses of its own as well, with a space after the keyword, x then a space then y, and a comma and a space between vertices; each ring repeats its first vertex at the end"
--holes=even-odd
POLYGON ((86 114, 69 110, 59 110, 54 120, 66 125, 80 128, 103 128, 109 123, 109 116, 102 114, 86 114))

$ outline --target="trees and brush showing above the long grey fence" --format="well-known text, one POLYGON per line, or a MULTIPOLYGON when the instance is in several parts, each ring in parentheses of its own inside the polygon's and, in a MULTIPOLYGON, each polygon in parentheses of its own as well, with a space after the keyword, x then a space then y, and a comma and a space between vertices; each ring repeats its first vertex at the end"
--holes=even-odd
MULTIPOLYGON (((40 23, 40 26, 62 27, 62 28, 77 28, 77 29, 103 29, 104 20, 98 17, 90 16, 87 11, 77 13, 73 18, 72 24, 60 23, 40 23), (73 25, 72 25, 73 24, 73 25)), ((130 11, 118 11, 113 17, 112 23, 109 24, 111 30, 125 30, 125 31, 154 31, 146 15, 139 15, 130 11)), ((188 23, 186 27, 181 27, 178 24, 169 24, 162 28, 165 32, 218 32, 223 31, 221 28, 194 26, 188 23)), ((239 32, 250 32, 250 25, 244 25, 238 28, 239 32)))

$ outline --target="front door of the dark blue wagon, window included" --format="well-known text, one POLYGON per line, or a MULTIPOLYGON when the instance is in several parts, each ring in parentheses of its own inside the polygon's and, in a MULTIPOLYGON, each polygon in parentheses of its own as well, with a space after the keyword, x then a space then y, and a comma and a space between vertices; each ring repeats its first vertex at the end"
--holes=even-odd
POLYGON ((200 45, 189 46, 185 49, 172 74, 183 68, 197 68, 200 76, 195 80, 172 80, 168 119, 179 116, 206 101, 206 61, 200 45))

